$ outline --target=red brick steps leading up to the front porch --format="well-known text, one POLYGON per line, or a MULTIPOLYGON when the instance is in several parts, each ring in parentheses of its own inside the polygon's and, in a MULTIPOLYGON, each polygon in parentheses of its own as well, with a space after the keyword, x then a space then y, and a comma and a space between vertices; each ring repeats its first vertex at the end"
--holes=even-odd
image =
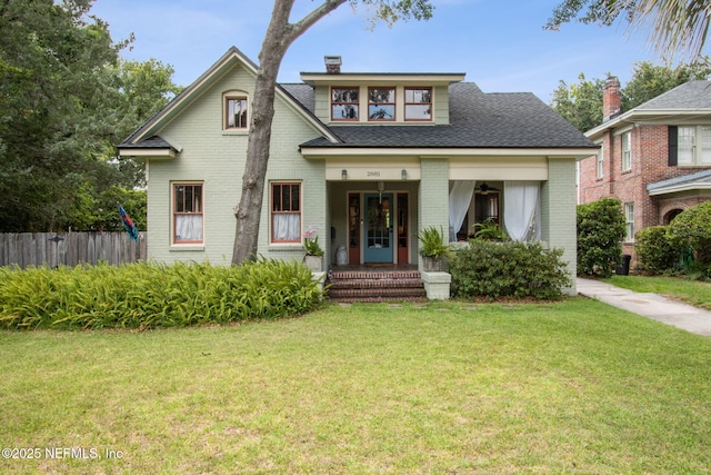
POLYGON ((427 301, 417 270, 332 270, 327 284, 339 303, 427 301))

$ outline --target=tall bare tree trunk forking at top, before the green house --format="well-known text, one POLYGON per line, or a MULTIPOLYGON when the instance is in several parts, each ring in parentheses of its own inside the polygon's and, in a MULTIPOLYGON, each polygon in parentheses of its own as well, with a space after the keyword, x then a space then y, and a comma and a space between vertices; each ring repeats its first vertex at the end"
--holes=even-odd
POLYGON ((264 197, 264 180, 269 161, 271 123, 274 117, 277 75, 287 49, 301 33, 346 0, 327 0, 298 23, 289 23, 294 0, 276 0, 271 21, 259 53, 259 69, 251 105, 251 120, 247 146, 247 162, 242 176, 242 195, 234 216, 237 229, 232 264, 240 265, 257 258, 259 225, 264 197))

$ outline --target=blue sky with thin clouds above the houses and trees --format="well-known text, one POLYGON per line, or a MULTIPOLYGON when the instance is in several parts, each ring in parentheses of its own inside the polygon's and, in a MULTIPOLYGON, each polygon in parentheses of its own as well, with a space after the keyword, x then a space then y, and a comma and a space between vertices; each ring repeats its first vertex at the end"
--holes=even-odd
MULTIPOLYGON (((296 0, 293 17, 318 0, 296 0)), ((368 29, 368 12, 347 3, 291 46, 281 82, 299 82, 301 71, 323 71, 323 57, 338 55, 350 72, 464 72, 484 92, 535 93, 550 102, 560 80, 604 78, 622 83, 633 63, 660 61, 645 34, 623 26, 569 23, 543 30, 559 0, 432 0, 429 21, 368 29)), ((133 32, 128 59, 156 58, 176 69, 188 86, 231 46, 254 62, 271 13, 269 0, 96 0, 91 13, 109 23, 114 41, 133 32)))

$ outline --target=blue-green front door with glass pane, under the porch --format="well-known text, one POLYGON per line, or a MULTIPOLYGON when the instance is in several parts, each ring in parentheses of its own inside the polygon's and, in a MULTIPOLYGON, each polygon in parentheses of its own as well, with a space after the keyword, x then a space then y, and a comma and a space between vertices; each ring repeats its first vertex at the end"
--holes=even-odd
POLYGON ((365 194, 364 255, 368 263, 392 263, 392 194, 365 194))

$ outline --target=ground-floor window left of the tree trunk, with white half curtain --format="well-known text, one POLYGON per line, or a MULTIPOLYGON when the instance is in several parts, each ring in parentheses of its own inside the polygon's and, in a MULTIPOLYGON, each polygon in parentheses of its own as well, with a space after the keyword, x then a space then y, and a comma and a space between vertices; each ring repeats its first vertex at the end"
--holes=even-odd
POLYGON ((173 184, 173 243, 202 243, 202 184, 173 184))

